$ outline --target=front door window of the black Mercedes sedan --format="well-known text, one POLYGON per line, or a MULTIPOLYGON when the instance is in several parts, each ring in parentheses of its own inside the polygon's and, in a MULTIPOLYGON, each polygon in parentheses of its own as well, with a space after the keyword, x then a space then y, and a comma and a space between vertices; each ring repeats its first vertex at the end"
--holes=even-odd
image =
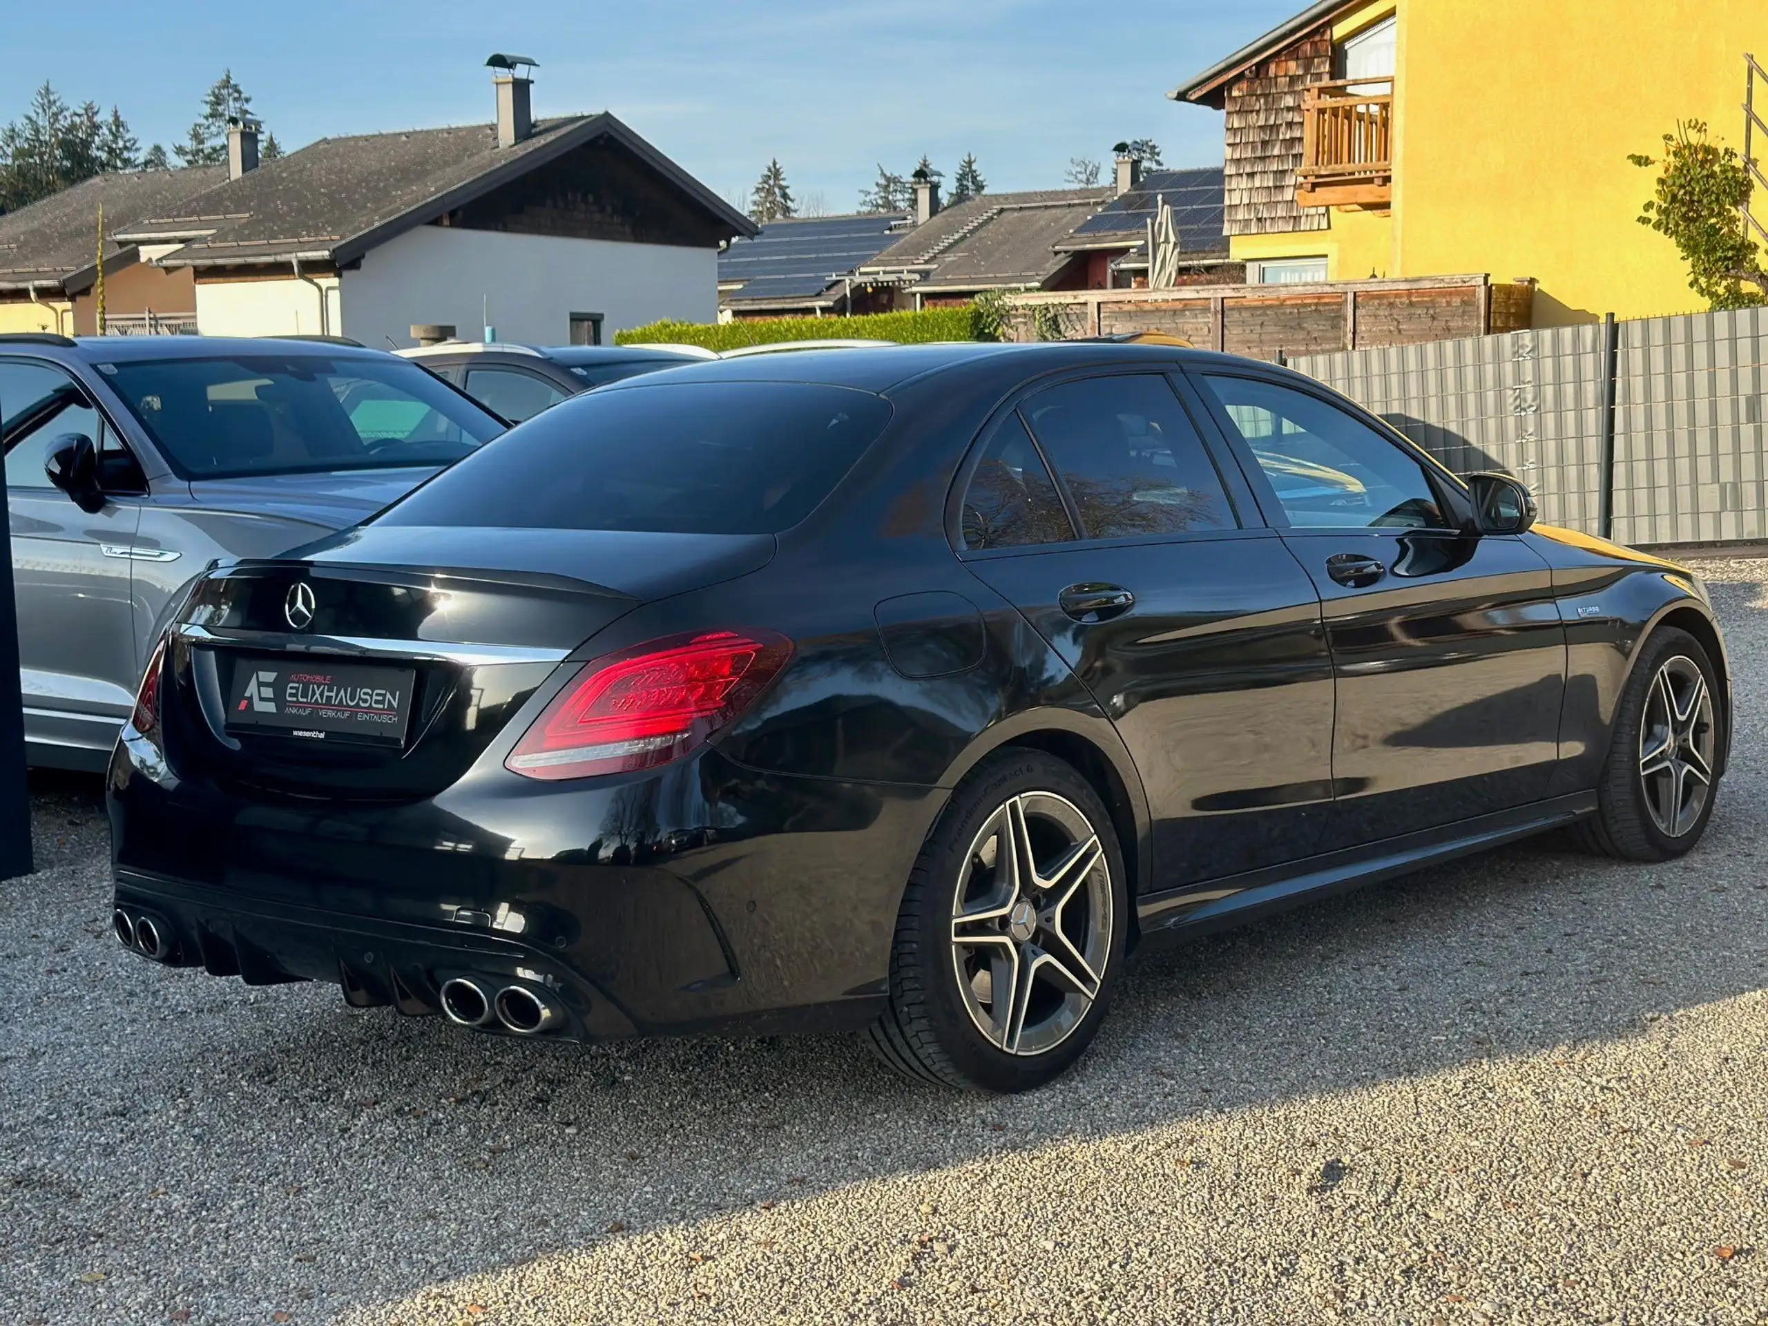
POLYGON ((1296 529, 1448 529, 1425 467, 1319 396, 1204 377, 1296 529))

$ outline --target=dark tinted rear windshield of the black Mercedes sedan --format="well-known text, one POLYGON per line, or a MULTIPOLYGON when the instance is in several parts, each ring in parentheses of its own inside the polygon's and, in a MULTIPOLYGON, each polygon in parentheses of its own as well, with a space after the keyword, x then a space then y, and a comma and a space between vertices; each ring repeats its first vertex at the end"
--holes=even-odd
POLYGON ((866 391, 693 382, 592 391, 438 474, 385 525, 778 534, 889 423, 866 391))

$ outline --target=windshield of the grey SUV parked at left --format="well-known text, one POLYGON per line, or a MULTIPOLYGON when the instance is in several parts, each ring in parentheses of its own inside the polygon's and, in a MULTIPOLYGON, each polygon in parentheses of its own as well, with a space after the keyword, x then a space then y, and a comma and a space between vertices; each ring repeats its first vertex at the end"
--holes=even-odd
POLYGON ((193 479, 451 465, 504 426, 403 359, 239 355, 101 364, 193 479))

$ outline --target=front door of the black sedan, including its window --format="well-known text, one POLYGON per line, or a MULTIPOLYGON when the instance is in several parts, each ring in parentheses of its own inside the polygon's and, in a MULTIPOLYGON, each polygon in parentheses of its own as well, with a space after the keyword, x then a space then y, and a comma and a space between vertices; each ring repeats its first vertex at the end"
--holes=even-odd
POLYGON ((1200 373, 1314 578, 1338 679, 1328 845, 1522 806, 1558 760, 1566 645, 1545 560, 1469 532, 1466 495, 1324 389, 1200 373))

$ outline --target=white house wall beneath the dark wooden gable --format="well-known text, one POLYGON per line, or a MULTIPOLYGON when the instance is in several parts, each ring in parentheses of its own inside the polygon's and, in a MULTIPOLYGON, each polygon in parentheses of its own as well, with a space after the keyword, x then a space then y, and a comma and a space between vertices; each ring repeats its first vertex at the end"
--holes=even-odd
MULTIPOLYGON (((311 292, 308 292, 311 297, 311 292)), ((414 345, 414 322, 451 322, 476 341, 483 299, 500 341, 564 345, 573 313, 601 313, 603 341, 658 318, 718 318, 718 255, 665 244, 417 226, 343 274, 343 334, 414 345)), ((203 327, 207 331, 207 327, 203 327)), ((332 327, 332 331, 339 331, 332 327)))

